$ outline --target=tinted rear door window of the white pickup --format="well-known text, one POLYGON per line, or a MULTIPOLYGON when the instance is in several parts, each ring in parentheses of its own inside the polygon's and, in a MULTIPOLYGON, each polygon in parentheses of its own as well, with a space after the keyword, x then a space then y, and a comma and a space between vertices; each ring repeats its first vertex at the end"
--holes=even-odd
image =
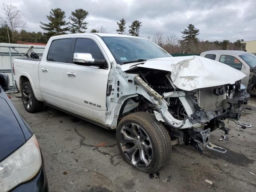
POLYGON ((48 51, 47 60, 54 62, 69 63, 72 42, 72 38, 53 40, 48 51))

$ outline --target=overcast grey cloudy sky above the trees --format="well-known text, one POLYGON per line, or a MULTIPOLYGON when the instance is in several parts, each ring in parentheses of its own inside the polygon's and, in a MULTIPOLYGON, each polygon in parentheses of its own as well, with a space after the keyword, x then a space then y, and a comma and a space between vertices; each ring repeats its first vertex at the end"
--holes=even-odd
POLYGON ((76 8, 87 10, 87 32, 103 26, 107 32, 116 33, 116 21, 124 18, 126 33, 133 20, 142 22, 143 38, 156 32, 170 32, 180 38, 180 31, 194 24, 200 29, 201 40, 256 39, 256 0, 0 0, 1 5, 3 2, 24 13, 28 31, 43 31, 39 22, 48 22, 46 15, 58 7, 66 12, 67 21, 76 8))

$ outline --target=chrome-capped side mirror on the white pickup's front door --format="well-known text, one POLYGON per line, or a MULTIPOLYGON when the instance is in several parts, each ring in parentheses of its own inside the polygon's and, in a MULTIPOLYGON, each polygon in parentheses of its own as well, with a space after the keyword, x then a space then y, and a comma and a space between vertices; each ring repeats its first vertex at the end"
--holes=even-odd
POLYGON ((107 68, 108 64, 104 59, 94 59, 90 53, 74 53, 73 55, 74 64, 88 65, 107 68))

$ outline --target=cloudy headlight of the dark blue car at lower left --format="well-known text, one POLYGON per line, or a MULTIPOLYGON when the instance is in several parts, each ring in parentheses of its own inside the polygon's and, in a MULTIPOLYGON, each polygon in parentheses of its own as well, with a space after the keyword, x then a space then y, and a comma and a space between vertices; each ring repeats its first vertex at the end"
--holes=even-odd
POLYGON ((38 174, 42 165, 35 134, 0 163, 0 192, 7 192, 38 174))

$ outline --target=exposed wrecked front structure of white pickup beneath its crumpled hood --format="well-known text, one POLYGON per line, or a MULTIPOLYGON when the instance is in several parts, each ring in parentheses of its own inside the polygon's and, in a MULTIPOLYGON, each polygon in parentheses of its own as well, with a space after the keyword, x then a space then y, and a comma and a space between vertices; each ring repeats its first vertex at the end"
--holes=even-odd
MULTIPOLYGON (((153 73, 157 72, 148 74, 153 73)), ((210 143, 211 132, 220 128, 228 133, 224 120, 239 120, 241 105, 250 98, 240 89, 240 80, 235 84, 184 91, 174 86, 170 74, 165 75, 168 83, 164 84, 159 83, 160 79, 154 84, 150 75, 141 73, 141 76, 147 82, 139 75, 134 80, 151 96, 155 104, 152 112, 158 121, 166 124, 172 142, 191 145, 200 153, 210 143), (172 91, 166 92, 164 88, 172 91)))

